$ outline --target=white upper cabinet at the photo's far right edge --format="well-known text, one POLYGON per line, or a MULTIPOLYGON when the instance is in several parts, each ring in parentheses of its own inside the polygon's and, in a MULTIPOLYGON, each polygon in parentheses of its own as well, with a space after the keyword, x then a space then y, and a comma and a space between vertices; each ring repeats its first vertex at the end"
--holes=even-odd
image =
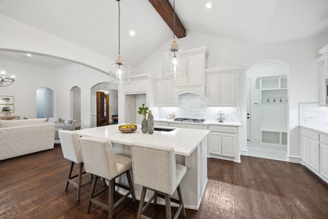
POLYGON ((326 103, 326 83, 325 79, 328 78, 328 45, 319 50, 322 55, 317 58, 319 69, 319 101, 320 105, 326 103))

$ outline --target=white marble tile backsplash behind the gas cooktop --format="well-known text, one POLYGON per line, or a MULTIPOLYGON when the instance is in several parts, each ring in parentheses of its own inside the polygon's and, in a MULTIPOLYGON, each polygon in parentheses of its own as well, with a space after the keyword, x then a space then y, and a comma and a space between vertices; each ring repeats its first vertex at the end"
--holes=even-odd
POLYGON ((217 121, 218 113, 222 111, 222 119, 226 122, 240 122, 239 107, 206 107, 206 97, 196 94, 181 94, 179 107, 157 107, 158 118, 166 118, 168 113, 175 117, 204 118, 206 121, 217 121))

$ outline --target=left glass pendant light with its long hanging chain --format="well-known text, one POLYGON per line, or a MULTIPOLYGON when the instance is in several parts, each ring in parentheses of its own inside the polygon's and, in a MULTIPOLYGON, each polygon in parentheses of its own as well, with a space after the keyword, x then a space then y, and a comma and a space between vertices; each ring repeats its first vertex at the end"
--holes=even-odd
POLYGON ((123 64, 123 61, 121 59, 120 55, 120 7, 119 7, 119 1, 118 2, 118 56, 116 58, 115 63, 111 65, 110 70, 110 84, 116 84, 116 85, 122 85, 122 84, 130 84, 130 72, 128 66, 123 64))

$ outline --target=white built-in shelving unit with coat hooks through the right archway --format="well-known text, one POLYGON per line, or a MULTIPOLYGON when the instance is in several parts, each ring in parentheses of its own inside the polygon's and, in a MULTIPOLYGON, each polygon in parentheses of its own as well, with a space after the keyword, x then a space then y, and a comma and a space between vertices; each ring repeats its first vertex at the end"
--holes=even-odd
POLYGON ((260 79, 261 143, 287 145, 287 78, 286 75, 260 79))

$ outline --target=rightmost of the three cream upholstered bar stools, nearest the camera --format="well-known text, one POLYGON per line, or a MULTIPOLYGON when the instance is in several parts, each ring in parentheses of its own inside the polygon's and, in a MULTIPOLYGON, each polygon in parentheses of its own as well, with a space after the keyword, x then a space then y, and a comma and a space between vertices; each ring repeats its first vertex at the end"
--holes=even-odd
POLYGON ((157 196, 165 197, 167 218, 172 218, 170 202, 179 204, 174 218, 178 218, 181 210, 183 217, 186 217, 180 182, 187 172, 187 167, 175 163, 174 148, 134 142, 131 146, 131 156, 134 183, 142 186, 137 218, 140 218, 152 200, 156 205, 157 196), (147 189, 153 190, 154 195, 144 206, 147 189), (171 197, 175 190, 179 200, 171 197))

